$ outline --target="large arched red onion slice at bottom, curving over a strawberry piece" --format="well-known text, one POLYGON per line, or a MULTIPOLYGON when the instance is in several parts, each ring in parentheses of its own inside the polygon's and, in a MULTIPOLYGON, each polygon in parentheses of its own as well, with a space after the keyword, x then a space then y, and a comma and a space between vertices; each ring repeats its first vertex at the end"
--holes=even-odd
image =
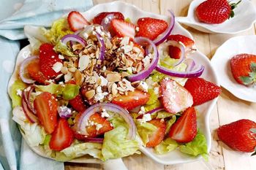
POLYGON ((86 126, 89 118, 91 117, 91 115, 94 115, 94 113, 96 112, 102 112, 102 109, 106 109, 106 111, 109 111, 109 112, 114 112, 120 115, 121 117, 123 117, 129 126, 129 133, 128 133, 129 139, 135 139, 136 125, 132 120, 132 117, 129 115, 129 112, 124 108, 119 107, 116 104, 110 104, 110 103, 94 104, 93 106, 86 109, 86 111, 82 113, 82 115, 78 120, 78 131, 77 131, 78 134, 88 135, 86 131, 86 126))

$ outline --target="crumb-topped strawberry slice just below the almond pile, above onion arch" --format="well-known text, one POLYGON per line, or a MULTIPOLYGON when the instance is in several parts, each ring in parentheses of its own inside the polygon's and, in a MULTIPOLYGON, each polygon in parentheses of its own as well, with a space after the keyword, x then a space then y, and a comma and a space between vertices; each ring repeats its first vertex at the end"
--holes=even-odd
POLYGON ((124 109, 131 110, 135 107, 146 104, 149 99, 149 94, 140 90, 129 91, 128 95, 121 95, 113 98, 112 103, 117 104, 124 109))

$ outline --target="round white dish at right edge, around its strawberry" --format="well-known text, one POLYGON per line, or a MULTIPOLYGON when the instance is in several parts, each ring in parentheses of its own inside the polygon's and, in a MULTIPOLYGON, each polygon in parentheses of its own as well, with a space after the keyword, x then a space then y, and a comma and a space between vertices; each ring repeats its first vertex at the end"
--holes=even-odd
POLYGON ((256 102, 256 87, 246 87, 236 82, 230 70, 230 59, 241 53, 256 55, 255 44, 256 36, 233 37, 220 46, 211 59, 211 66, 218 75, 220 85, 234 96, 251 102, 256 102))

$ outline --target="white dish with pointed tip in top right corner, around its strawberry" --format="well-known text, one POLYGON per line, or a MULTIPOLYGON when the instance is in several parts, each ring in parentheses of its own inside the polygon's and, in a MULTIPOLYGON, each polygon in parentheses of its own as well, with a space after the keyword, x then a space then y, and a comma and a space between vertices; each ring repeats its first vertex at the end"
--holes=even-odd
MULTIPOLYGON (((252 1, 242 0, 234 9, 235 16, 220 24, 202 23, 195 15, 195 9, 206 0, 195 0, 189 5, 187 17, 177 17, 179 23, 184 23, 187 26, 195 28, 206 33, 223 33, 223 34, 238 34, 241 31, 246 31, 252 28, 256 20, 256 9, 252 1)), ((232 1, 236 3, 238 0, 232 1)))

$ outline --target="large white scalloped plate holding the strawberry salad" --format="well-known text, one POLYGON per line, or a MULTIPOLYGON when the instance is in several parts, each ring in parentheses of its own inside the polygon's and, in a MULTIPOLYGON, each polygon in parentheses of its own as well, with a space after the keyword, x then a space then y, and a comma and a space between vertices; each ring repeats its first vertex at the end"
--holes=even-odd
MULTIPOLYGON (((138 20, 138 18, 142 18, 142 17, 159 18, 162 20, 166 20, 168 23, 170 23, 169 18, 165 15, 157 15, 150 12, 144 12, 143 10, 133 6, 132 4, 127 4, 122 1, 114 1, 106 4, 98 4, 92 7, 91 9, 89 9, 88 11, 83 12, 83 15, 88 20, 91 20, 99 12, 111 12, 111 11, 122 12, 124 14, 124 17, 130 18, 133 23, 135 23, 138 20)), ((185 36, 189 36, 190 38, 192 38, 192 35, 189 34, 187 30, 182 28, 180 24, 178 24, 177 22, 173 29, 173 34, 184 34, 185 36)), ((29 53, 30 53, 29 46, 27 46, 27 47, 24 47, 23 50, 21 50, 20 53, 18 54, 18 58, 15 66, 15 72, 12 75, 12 78, 10 80, 9 87, 18 77, 18 66, 20 66, 21 61, 23 61, 26 57, 28 57, 29 53)), ((203 66, 205 66, 205 71, 203 72, 202 77, 204 77, 208 81, 214 82, 215 84, 219 85, 217 76, 214 73, 214 69, 211 67, 211 63, 206 57, 206 55, 203 55, 203 53, 200 53, 200 51, 197 50, 195 53, 191 55, 191 58, 194 58, 197 63, 203 64, 203 66)), ((213 109, 214 104, 216 104, 216 102, 217 102, 217 98, 215 98, 212 101, 208 101, 207 103, 197 107, 197 110, 200 112, 197 125, 198 125, 198 128, 200 128, 200 131, 202 131, 203 134, 206 136, 208 152, 210 151, 210 148, 211 148, 211 133, 210 133, 210 127, 209 127, 209 117, 210 117, 211 110, 213 109)), ((37 152, 37 154, 42 155, 43 157, 47 157, 43 152, 43 150, 40 149, 39 147, 31 147, 31 149, 34 150, 34 152, 37 152)), ((173 152, 169 152, 165 155, 157 155, 156 153, 154 153, 154 150, 150 148, 140 147, 140 150, 145 155, 148 155, 148 157, 152 158, 154 161, 157 161, 158 163, 162 163, 162 164, 187 163, 191 161, 196 161, 200 158, 199 156, 191 157, 189 155, 185 155, 179 152, 178 150, 174 150, 173 152)), ((102 163, 101 161, 91 158, 89 156, 77 158, 70 162, 102 163)))

